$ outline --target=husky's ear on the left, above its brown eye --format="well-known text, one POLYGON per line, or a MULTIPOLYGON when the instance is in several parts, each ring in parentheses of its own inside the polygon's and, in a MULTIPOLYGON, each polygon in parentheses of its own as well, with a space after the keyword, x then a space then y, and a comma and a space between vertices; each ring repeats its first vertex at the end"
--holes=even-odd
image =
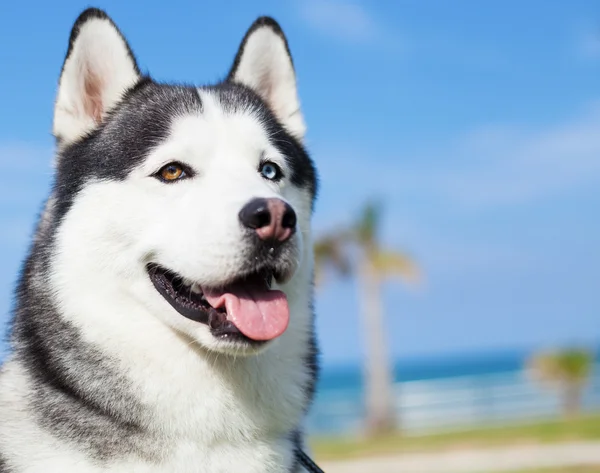
POLYGON ((139 79, 131 49, 113 21, 102 10, 85 10, 71 30, 58 85, 53 133, 59 144, 98 126, 139 79))

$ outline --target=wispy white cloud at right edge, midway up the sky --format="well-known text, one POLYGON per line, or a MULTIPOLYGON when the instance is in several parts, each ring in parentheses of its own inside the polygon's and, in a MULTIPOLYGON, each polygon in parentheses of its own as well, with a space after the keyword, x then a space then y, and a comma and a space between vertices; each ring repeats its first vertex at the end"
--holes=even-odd
POLYGON ((441 194, 476 207, 521 205, 600 184, 598 107, 547 129, 509 129, 505 138, 456 150, 464 168, 432 173, 441 194))

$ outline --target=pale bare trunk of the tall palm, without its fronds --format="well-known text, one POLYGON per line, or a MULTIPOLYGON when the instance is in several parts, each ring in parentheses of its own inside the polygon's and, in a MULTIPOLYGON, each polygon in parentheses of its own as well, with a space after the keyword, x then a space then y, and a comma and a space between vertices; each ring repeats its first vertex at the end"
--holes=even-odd
POLYGON ((377 435, 397 428, 392 393, 392 369, 387 351, 381 287, 375 271, 365 262, 358 274, 361 316, 365 334, 364 365, 366 428, 377 435))

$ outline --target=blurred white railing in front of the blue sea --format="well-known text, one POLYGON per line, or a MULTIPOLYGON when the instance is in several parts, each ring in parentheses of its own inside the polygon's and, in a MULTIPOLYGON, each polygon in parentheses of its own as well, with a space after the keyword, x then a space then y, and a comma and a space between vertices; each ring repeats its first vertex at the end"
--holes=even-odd
MULTIPOLYGON (((397 383, 396 409, 407 433, 469 428, 554 416, 558 393, 542 389, 523 372, 462 376, 397 383)), ((585 387, 583 407, 600 409, 600 368, 585 387)), ((319 393, 308 429, 313 433, 352 433, 361 428, 360 390, 319 393)))

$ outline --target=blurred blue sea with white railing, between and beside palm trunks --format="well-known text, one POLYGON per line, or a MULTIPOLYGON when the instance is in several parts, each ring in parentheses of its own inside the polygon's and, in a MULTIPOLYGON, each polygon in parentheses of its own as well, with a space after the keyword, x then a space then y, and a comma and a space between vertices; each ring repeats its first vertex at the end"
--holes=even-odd
MULTIPOLYGON (((523 370, 527 353, 474 354, 404 360, 394 369, 398 425, 407 433, 469 428, 555 416, 556 391, 523 370)), ((600 359, 585 386, 583 406, 600 409, 600 359)), ((321 435, 355 434, 364 418, 359 365, 326 367, 307 420, 321 435)))

